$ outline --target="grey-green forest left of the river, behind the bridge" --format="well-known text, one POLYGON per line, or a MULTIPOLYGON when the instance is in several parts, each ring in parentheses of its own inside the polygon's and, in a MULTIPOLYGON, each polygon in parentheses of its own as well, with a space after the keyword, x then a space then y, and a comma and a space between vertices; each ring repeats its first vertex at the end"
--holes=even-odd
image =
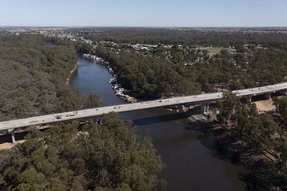
POLYGON ((32 34, 0 36, 0 120, 103 105, 98 95, 84 97, 67 84, 76 53, 87 45, 57 40, 59 45, 45 46, 51 40, 32 34))

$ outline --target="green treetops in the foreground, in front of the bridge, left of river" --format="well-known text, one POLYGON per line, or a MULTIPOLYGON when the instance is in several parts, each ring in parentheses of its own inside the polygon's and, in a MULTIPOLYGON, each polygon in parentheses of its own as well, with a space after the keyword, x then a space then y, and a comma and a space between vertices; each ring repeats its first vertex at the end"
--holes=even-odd
POLYGON ((0 151, 0 177, 5 190, 166 190, 157 178, 165 164, 151 138, 136 136, 132 121, 117 113, 41 132, 33 129, 25 142, 0 151))

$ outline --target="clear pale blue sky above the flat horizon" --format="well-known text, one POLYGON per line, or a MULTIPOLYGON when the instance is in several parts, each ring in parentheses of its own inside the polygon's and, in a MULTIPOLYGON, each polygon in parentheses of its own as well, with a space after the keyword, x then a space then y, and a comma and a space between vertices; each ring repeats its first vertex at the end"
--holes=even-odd
POLYGON ((0 0, 0 26, 287 27, 287 0, 0 0))

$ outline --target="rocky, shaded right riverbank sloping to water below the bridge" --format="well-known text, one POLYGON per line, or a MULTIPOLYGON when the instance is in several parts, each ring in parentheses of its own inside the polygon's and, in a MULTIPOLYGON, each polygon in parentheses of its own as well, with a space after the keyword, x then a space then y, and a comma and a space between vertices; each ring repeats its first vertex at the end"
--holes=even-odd
POLYGON ((192 122, 202 128, 204 133, 216 136, 224 147, 235 152, 242 164, 252 171, 250 174, 245 173, 239 177, 249 185, 250 190, 281 190, 280 183, 282 184, 283 177, 271 170, 271 164, 278 162, 275 157, 266 151, 255 152, 244 141, 235 138, 231 129, 222 128, 214 120, 214 116, 211 115, 208 121, 207 118, 199 117, 198 114, 194 111, 187 111, 187 116, 192 122))

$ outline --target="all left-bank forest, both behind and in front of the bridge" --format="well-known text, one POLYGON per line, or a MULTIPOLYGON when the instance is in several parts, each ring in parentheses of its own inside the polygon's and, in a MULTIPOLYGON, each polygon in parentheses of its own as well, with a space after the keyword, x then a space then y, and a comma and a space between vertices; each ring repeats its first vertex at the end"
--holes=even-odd
MULTIPOLYGON (((101 97, 82 96, 66 83, 76 53, 88 44, 40 35, 0 36, 0 119, 31 117, 103 105, 101 97), (44 46, 52 42, 56 46, 44 46)), ((25 142, 0 151, 0 187, 4 190, 166 190, 157 178, 165 164, 156 156, 148 130, 136 136, 132 121, 118 114, 58 123, 30 130, 25 142)))

